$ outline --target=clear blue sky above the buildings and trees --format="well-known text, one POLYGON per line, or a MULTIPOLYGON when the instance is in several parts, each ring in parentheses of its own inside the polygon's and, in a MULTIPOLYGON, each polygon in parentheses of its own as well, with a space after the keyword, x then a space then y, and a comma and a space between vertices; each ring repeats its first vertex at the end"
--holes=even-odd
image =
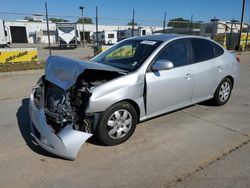
MULTIPOLYGON (((4 20, 23 19, 25 15, 9 13, 41 13, 45 14, 44 0, 0 0, 0 18, 4 20)), ((240 20, 242 0, 47 0, 48 12, 51 15, 66 16, 72 22, 80 16, 79 6, 85 6, 84 15, 95 17, 98 6, 100 24, 126 24, 132 18, 141 25, 161 25, 166 12, 167 20, 172 18, 209 21, 211 18, 220 20, 240 20), (70 17, 67 17, 70 16, 70 17), (107 19, 112 18, 112 19, 107 19)), ((55 16, 51 16, 55 17, 55 16)), ((250 0, 246 0, 245 22, 250 20, 250 0)), ((94 21, 94 19, 93 19, 94 21)))

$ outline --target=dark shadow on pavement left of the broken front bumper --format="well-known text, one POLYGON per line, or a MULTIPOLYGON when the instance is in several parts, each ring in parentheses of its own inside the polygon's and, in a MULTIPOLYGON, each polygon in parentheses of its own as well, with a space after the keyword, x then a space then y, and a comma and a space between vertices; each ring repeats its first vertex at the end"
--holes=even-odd
POLYGON ((30 116, 29 116, 29 98, 24 98, 22 100, 22 105, 19 107, 16 113, 16 118, 17 118, 19 130, 26 144, 29 146, 30 149, 32 149, 34 152, 43 156, 62 159, 56 155, 53 155, 45 151, 40 146, 35 145, 35 141, 33 137, 30 135, 31 129, 30 129, 30 116))

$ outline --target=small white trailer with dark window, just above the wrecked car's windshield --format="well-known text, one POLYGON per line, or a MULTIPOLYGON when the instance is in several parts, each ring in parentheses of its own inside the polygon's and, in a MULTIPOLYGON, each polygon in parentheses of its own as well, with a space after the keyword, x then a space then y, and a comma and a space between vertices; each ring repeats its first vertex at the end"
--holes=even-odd
MULTIPOLYGON (((93 34, 93 39, 96 42, 96 33, 93 34)), ((98 32, 98 41, 101 44, 117 43, 117 31, 101 31, 98 32)))

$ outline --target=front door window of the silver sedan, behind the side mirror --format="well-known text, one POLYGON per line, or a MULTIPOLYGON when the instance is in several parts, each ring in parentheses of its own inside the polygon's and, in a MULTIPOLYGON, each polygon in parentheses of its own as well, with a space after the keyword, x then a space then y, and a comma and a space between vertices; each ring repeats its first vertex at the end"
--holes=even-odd
POLYGON ((179 39, 167 44, 156 56, 155 62, 160 59, 171 61, 174 67, 187 65, 189 63, 187 40, 179 39))

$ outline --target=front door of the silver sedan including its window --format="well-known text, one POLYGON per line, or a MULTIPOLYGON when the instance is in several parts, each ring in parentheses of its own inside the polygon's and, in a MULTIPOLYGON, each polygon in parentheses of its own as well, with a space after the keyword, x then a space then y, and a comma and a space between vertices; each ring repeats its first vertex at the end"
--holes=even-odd
POLYGON ((193 68, 189 65, 189 40, 177 39, 167 44, 154 58, 169 60, 171 70, 146 73, 146 114, 147 118, 189 105, 193 89, 193 68))

